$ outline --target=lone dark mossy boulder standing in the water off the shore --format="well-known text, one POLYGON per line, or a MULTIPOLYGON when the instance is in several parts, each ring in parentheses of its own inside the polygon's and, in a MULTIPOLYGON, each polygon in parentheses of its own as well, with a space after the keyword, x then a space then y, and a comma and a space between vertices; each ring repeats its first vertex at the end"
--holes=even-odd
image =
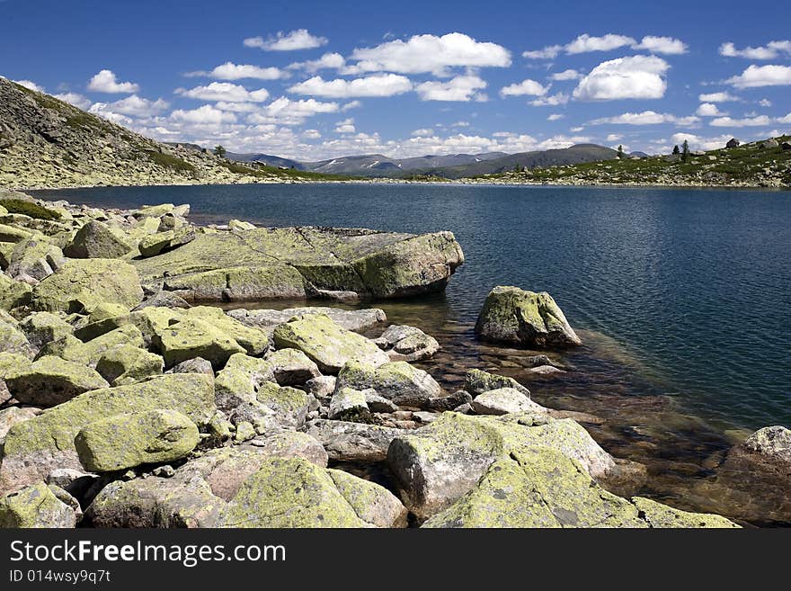
POLYGON ((582 341, 546 291, 495 287, 486 296, 475 324, 485 340, 534 347, 567 347, 582 341))

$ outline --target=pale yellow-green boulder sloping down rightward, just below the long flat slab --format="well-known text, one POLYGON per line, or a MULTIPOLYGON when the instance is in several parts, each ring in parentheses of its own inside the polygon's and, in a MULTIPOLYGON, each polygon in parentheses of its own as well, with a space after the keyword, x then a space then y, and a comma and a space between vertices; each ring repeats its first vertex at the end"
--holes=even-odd
POLYGON ((339 327, 324 315, 298 316, 272 333, 279 349, 298 349, 312 359, 322 372, 337 373, 349 361, 381 365, 389 361, 377 345, 339 327))

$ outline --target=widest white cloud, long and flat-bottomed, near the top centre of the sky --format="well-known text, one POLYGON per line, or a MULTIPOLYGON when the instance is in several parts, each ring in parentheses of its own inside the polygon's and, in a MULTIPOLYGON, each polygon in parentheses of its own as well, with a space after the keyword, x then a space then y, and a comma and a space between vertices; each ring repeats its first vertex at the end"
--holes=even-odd
POLYGON ((509 67, 511 52, 496 43, 482 42, 463 33, 414 35, 409 40, 392 40, 373 48, 354 49, 357 61, 349 73, 432 72, 446 76, 452 67, 509 67))

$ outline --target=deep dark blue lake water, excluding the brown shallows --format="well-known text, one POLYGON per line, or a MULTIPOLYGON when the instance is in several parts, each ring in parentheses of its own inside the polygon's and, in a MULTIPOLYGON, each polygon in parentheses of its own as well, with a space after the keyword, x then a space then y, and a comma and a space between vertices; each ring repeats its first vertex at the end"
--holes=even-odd
POLYGON ((467 263, 444 300, 475 322, 494 285, 549 291, 574 327, 614 339, 698 416, 791 426, 791 193, 484 185, 97 188, 49 199, 188 202, 192 219, 428 232, 467 263))

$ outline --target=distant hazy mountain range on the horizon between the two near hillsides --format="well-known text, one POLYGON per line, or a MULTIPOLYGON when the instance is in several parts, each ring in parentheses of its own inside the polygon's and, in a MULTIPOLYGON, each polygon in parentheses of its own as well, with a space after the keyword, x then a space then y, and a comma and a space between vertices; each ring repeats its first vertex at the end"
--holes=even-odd
POLYGON ((599 162, 616 158, 618 153, 614 149, 595 144, 578 144, 571 148, 521 152, 519 154, 486 152, 484 154, 453 154, 401 159, 371 154, 332 158, 319 162, 299 162, 268 154, 235 154, 232 152, 228 152, 227 157, 238 162, 260 162, 267 166, 296 168, 324 175, 396 178, 433 175, 454 179, 466 176, 494 175, 513 170, 516 167, 520 169, 538 168, 599 162))

